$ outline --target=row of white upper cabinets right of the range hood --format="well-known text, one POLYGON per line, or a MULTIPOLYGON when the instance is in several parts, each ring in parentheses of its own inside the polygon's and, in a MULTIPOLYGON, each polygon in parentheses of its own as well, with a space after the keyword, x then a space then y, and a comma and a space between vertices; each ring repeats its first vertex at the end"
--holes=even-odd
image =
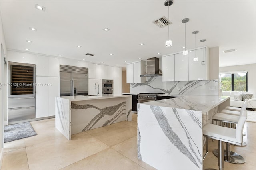
POLYGON ((189 50, 188 55, 176 53, 163 56, 163 81, 209 79, 208 47, 189 50))

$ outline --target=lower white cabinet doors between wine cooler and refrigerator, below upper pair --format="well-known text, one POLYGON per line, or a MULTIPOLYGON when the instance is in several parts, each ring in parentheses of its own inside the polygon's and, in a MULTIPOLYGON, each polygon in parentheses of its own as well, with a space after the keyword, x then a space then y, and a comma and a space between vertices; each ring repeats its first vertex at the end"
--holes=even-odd
POLYGON ((59 77, 36 76, 36 118, 55 115, 55 97, 60 96, 59 77))

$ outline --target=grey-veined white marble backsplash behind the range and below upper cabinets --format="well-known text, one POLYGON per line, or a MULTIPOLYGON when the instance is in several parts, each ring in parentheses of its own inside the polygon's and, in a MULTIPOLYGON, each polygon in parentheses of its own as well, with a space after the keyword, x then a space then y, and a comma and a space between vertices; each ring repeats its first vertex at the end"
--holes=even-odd
POLYGON ((219 95, 219 81, 197 80, 162 82, 162 76, 159 76, 147 77, 145 83, 130 83, 130 93, 149 92, 170 95, 219 95))

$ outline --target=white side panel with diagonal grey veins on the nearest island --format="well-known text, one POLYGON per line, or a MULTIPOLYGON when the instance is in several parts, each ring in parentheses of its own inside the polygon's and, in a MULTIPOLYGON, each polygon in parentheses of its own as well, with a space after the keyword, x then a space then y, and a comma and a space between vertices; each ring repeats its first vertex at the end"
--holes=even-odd
POLYGON ((201 111, 144 104, 138 107, 140 160, 156 169, 202 169, 201 111))

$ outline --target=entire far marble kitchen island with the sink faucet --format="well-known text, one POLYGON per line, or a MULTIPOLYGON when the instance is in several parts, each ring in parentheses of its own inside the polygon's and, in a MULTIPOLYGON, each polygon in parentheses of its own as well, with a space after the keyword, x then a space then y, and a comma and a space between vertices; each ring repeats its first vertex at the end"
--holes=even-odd
POLYGON ((55 127, 71 135, 120 121, 132 121, 131 95, 62 96, 55 100, 55 127))

